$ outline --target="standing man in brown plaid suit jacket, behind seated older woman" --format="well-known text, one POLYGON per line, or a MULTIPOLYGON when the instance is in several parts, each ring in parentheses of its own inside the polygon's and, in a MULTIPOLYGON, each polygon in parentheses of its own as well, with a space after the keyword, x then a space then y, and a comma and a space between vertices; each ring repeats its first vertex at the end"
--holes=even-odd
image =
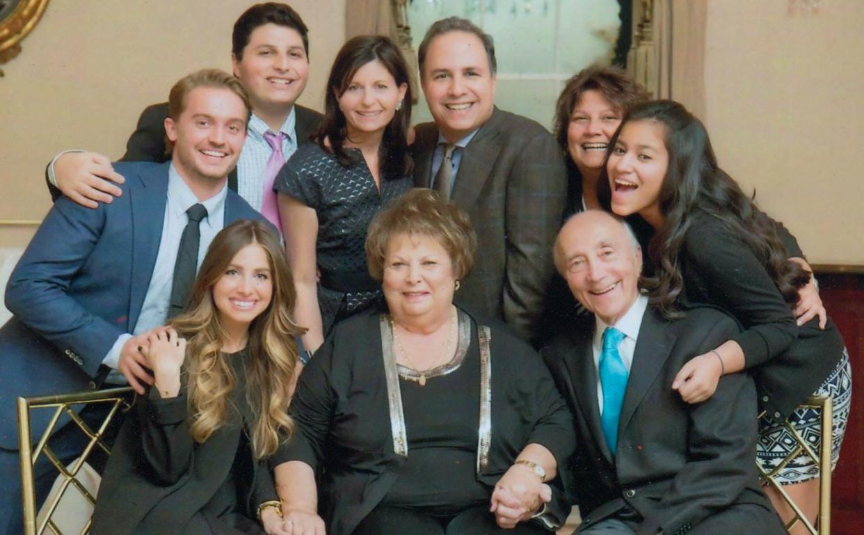
POLYGON ((464 208, 478 236, 456 303, 537 341, 567 196, 561 150, 540 124, 495 107, 495 49, 473 23, 435 22, 418 55, 435 123, 416 127, 415 183, 464 208))

